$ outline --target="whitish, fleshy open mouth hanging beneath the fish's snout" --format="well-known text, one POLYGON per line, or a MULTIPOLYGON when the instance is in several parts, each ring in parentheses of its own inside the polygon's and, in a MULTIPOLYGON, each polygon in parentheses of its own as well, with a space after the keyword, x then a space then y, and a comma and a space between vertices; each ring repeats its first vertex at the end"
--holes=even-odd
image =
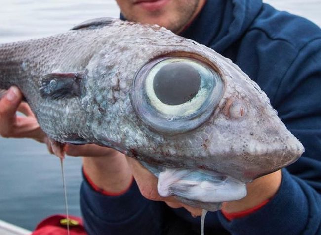
POLYGON ((222 202, 246 196, 246 183, 231 176, 206 170, 174 169, 140 162, 158 177, 160 196, 174 196, 180 202, 208 211, 221 208, 222 202))

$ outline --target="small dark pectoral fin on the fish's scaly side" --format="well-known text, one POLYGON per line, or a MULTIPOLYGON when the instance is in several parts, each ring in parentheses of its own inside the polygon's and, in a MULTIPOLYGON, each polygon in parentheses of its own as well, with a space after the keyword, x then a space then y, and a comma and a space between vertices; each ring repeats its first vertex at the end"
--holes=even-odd
POLYGON ((40 80, 42 97, 63 99, 81 96, 84 90, 84 72, 80 73, 52 73, 40 80))

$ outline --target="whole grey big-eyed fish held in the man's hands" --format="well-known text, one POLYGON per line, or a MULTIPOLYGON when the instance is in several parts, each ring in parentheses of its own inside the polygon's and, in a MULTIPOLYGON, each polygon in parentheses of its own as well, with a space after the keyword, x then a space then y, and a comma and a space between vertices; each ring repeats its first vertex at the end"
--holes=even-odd
POLYGON ((11 85, 55 143, 117 149, 159 177, 161 196, 206 210, 304 151, 238 66, 158 26, 99 18, 2 44, 11 85))

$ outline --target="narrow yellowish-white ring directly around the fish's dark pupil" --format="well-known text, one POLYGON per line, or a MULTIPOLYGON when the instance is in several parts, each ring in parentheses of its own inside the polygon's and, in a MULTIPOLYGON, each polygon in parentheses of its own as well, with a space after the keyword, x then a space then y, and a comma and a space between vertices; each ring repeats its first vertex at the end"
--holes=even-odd
POLYGON ((176 62, 184 62, 184 63, 191 64, 191 66, 196 68, 199 74, 201 72, 201 74, 205 76, 208 75, 212 77, 210 71, 208 71, 206 68, 204 68, 201 64, 197 62, 187 61, 186 59, 182 59, 182 58, 167 59, 156 64, 151 69, 145 81, 145 91, 150 100, 151 105, 155 109, 157 109, 159 112, 169 116, 187 116, 195 113, 202 107, 203 103, 207 100, 208 96, 210 95, 209 93, 211 92, 211 89, 208 89, 208 87, 206 87, 208 85, 206 85, 206 81, 200 75, 201 76, 200 89, 198 93, 190 101, 179 105, 168 105, 161 102, 161 100, 157 98, 154 91, 153 82, 154 82, 155 75, 164 65, 168 63, 176 63, 176 62))

